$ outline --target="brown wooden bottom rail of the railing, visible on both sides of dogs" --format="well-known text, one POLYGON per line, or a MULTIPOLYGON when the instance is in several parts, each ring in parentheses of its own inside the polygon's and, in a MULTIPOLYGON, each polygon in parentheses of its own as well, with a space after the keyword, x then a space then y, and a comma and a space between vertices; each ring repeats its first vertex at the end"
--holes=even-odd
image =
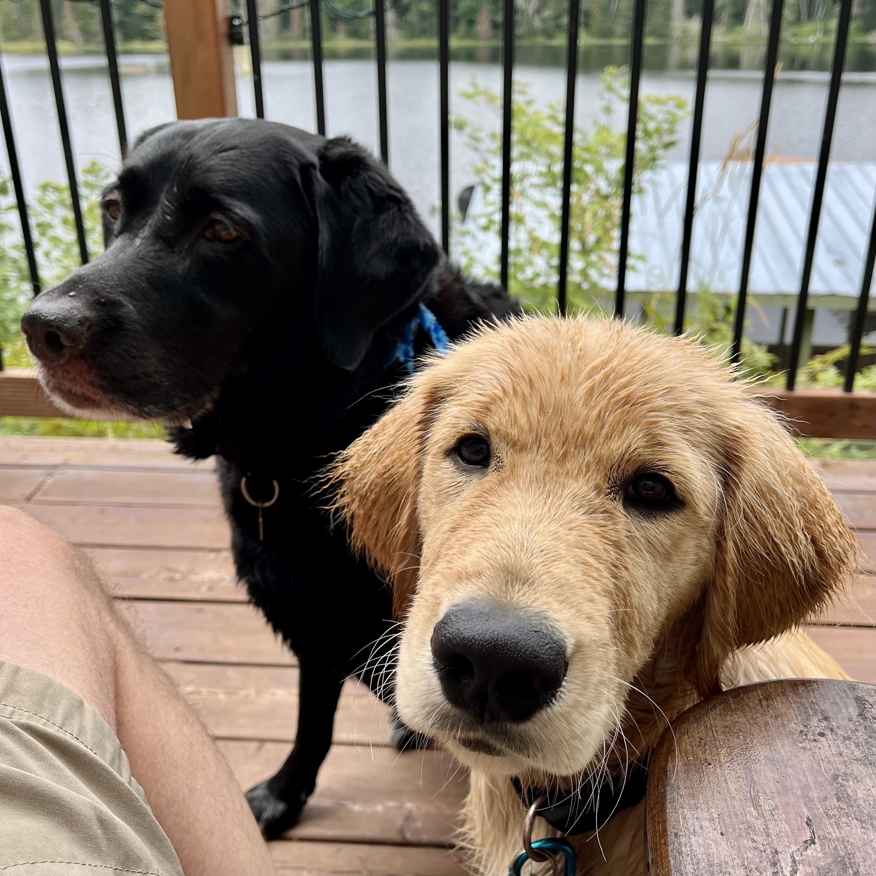
MULTIPOLYGON (((808 438, 876 440, 876 392, 838 389, 798 389, 758 386, 753 396, 788 418, 794 434, 808 438)), ((0 371, 0 417, 66 417, 46 398, 29 369, 0 371)))

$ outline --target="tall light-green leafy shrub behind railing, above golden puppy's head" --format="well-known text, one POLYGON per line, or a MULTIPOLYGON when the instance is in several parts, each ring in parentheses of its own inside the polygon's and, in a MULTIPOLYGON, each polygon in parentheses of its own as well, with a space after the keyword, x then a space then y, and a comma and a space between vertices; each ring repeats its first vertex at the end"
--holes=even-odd
MULTIPOLYGON (((607 298, 606 290, 617 273, 617 240, 624 191, 625 131, 618 131, 615 115, 629 94, 623 69, 609 67, 602 76, 601 118, 592 131, 576 128, 573 145, 572 195, 569 222, 569 312, 588 312, 607 298)), ((502 97, 472 80, 463 92, 497 114, 502 97)), ((639 128, 633 171, 635 191, 642 175, 661 166, 669 149, 678 143, 679 125, 687 115, 687 102, 675 95, 646 95, 639 102, 639 128)), ((539 109, 525 84, 516 83, 512 102, 511 240, 509 272, 512 293, 532 307, 555 309, 559 260, 560 192, 562 191, 565 106, 562 101, 539 109)), ((474 217, 474 227, 460 229, 459 258, 469 272, 498 279, 498 269, 485 268, 478 252, 484 233, 498 237, 501 230, 502 135, 484 131, 466 119, 456 118, 477 155, 475 173, 484 208, 474 217)), ((632 261, 640 259, 635 254, 632 261)))

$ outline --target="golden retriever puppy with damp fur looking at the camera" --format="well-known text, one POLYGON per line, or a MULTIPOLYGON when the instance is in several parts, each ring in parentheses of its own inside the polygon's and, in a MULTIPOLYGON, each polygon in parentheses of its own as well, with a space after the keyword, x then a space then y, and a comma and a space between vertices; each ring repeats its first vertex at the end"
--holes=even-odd
POLYGON ((470 767, 477 872, 508 871, 540 789, 579 873, 643 872, 642 777, 669 720, 722 685, 846 677, 795 625, 856 541, 774 414, 688 339, 483 329, 332 477, 405 621, 399 715, 470 767))

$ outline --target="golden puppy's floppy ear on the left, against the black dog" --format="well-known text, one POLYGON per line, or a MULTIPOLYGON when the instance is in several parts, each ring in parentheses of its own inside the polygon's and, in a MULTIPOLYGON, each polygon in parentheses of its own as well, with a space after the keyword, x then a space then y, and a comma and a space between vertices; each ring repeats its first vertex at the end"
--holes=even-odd
POLYGON ((436 405, 437 392, 420 376, 329 469, 333 507, 350 527, 353 548, 392 584, 397 618, 406 614, 420 571, 420 455, 436 405))

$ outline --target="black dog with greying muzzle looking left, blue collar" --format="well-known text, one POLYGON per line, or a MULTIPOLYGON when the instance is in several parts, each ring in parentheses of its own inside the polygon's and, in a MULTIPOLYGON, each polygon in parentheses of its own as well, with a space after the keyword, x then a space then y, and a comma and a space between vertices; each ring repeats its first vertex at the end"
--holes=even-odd
POLYGON ((22 328, 55 399, 163 420, 180 454, 219 457, 237 573, 300 665, 293 751, 248 794, 276 837, 314 789, 344 679, 392 640, 391 595, 329 526, 314 474, 385 410, 406 340, 429 345, 422 305, 451 339, 517 307, 444 264, 362 148, 281 124, 147 132, 103 222, 102 257, 41 294, 22 328))

